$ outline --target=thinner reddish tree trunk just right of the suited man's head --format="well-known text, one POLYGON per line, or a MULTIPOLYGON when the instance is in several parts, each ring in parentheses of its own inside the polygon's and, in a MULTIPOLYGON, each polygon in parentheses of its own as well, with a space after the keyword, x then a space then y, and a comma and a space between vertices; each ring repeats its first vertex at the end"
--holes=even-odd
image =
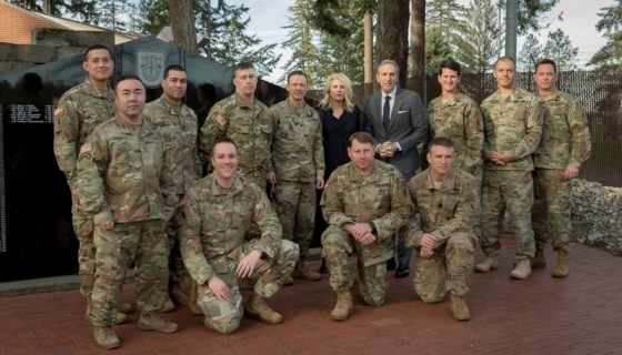
MULTIPOLYGON (((425 95, 425 0, 412 0, 410 13, 409 74, 412 85, 424 100, 425 95)), ((425 102, 425 101, 423 101, 425 102)))

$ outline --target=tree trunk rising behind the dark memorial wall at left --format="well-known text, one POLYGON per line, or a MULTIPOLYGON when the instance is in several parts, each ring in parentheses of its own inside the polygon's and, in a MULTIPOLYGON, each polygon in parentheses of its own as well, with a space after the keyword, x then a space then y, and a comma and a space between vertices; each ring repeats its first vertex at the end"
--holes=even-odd
POLYGON ((173 42, 189 52, 197 53, 197 29, 192 0, 169 0, 169 14, 173 42))

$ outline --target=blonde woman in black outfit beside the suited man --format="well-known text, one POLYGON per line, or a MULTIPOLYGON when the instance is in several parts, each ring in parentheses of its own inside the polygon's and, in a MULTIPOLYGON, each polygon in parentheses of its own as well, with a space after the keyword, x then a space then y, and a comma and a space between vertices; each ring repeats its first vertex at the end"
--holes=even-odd
MULTIPOLYGON (((324 181, 339 166, 350 162, 348 156, 348 140, 354 132, 362 130, 361 114, 353 100, 352 82, 342 73, 331 74, 324 84, 324 98, 318 105, 318 113, 322 121, 322 139, 324 144, 324 181)), ((318 191, 318 204, 321 197, 318 191)), ((320 206, 315 209, 314 237, 320 239, 327 229, 320 206)), ((322 260, 320 273, 325 273, 327 266, 322 260)))

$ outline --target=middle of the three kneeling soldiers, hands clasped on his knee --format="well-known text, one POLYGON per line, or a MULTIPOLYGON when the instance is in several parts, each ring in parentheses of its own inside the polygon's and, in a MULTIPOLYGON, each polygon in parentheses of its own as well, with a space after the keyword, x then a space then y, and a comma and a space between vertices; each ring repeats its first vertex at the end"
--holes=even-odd
POLYGON ((387 261, 393 256, 391 236, 411 213, 402 174, 374 160, 373 138, 369 133, 352 134, 348 155, 351 162, 330 175, 320 202, 329 223, 322 234, 322 256, 330 285, 338 294, 331 312, 334 321, 348 320, 352 308, 353 277, 348 267, 351 254, 357 254, 363 301, 369 305, 384 303, 387 261))

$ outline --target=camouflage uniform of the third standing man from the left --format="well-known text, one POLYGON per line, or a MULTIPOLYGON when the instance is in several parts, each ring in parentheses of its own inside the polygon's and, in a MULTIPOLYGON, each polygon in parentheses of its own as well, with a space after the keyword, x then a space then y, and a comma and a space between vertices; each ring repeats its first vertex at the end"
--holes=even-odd
MULTIPOLYGON (((168 151, 178 151, 181 160, 175 162, 173 170, 181 173, 177 179, 183 184, 178 187, 178 194, 183 196, 185 190, 199 179, 201 163, 197 150, 197 115, 189 106, 181 104, 173 106, 162 95, 144 106, 143 118, 147 119, 162 135, 168 151)), ((178 230, 181 220, 181 209, 177 209, 167 225, 169 236, 169 271, 172 283, 181 283, 185 276, 185 268, 179 252, 178 230)))

